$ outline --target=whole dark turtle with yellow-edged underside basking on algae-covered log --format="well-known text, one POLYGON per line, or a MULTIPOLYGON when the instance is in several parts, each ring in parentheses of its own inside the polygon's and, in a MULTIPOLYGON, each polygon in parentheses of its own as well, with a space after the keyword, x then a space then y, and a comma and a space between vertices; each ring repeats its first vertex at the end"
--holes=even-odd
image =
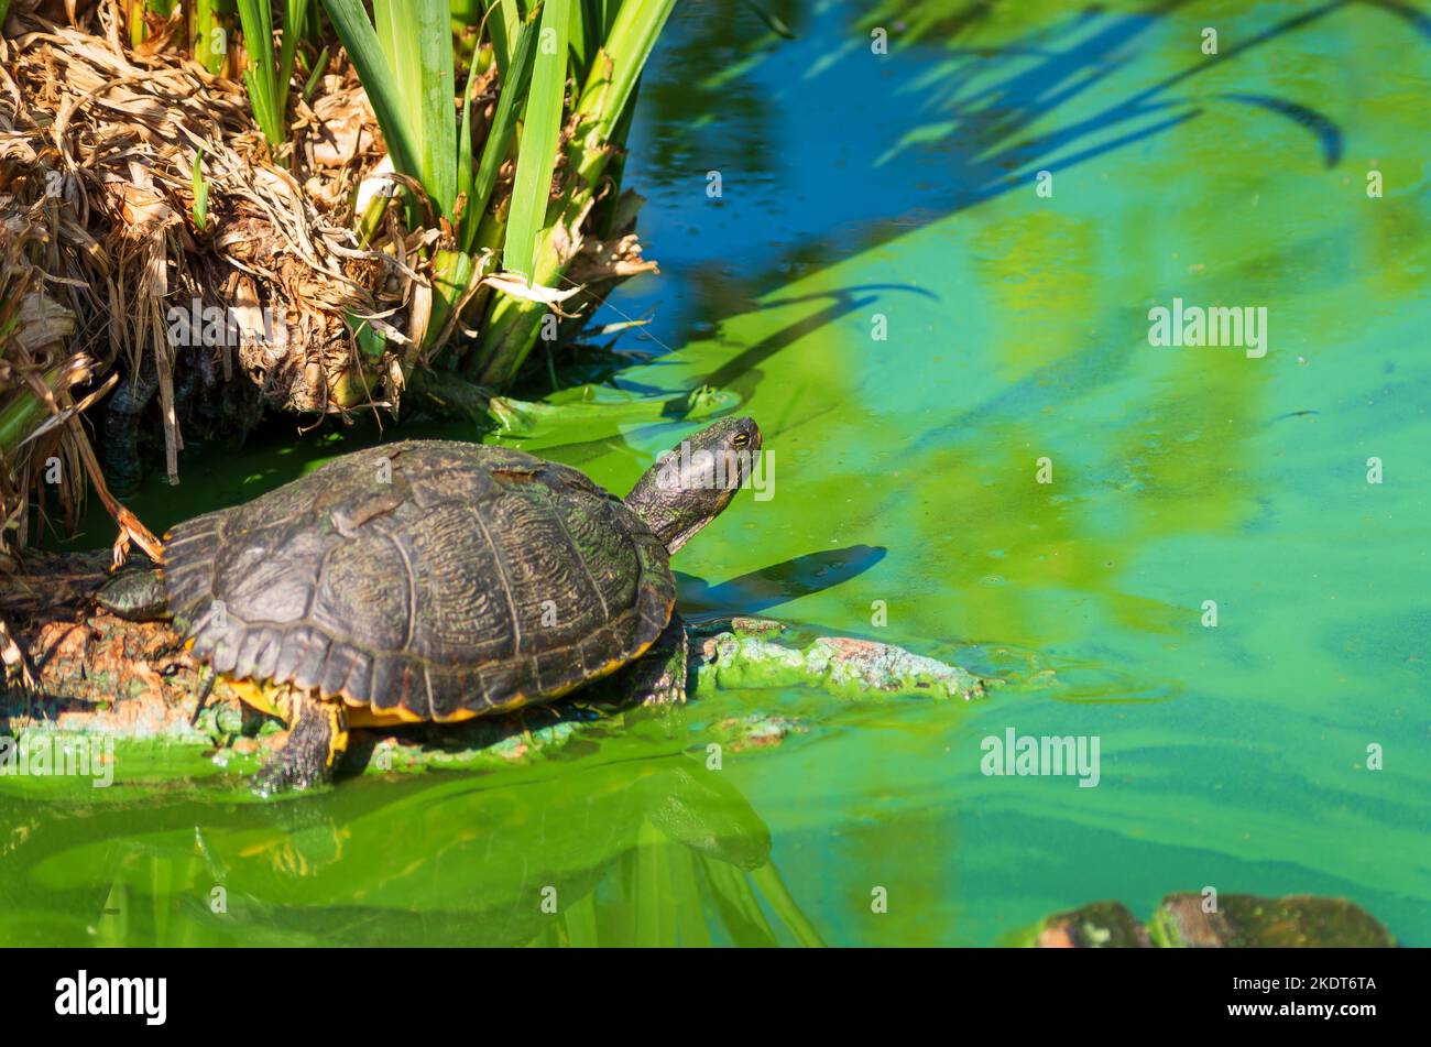
POLYGON ((169 616, 288 735, 262 795, 329 782, 349 728, 455 722, 604 677, 631 702, 685 698, 670 558, 746 483, 750 418, 691 435, 622 499, 527 452, 454 441, 356 451, 250 502, 185 521, 157 569, 96 602, 169 616))

